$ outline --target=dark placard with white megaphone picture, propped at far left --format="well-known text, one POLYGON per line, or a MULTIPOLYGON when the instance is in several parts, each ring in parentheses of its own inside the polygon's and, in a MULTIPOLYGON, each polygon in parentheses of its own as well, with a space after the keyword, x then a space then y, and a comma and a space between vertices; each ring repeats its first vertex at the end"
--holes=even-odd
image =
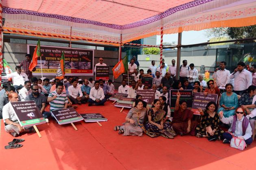
POLYGON ((46 123, 35 101, 11 102, 11 106, 21 126, 33 126, 46 123))

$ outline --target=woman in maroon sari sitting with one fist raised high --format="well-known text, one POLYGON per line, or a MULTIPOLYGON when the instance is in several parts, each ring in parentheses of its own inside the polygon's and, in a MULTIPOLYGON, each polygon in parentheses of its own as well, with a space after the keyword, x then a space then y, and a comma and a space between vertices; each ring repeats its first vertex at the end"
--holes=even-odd
POLYGON ((174 118, 172 119, 172 127, 180 136, 191 134, 195 136, 196 121, 193 121, 193 112, 187 109, 187 102, 180 101, 180 92, 177 94, 177 100, 174 108, 174 118))

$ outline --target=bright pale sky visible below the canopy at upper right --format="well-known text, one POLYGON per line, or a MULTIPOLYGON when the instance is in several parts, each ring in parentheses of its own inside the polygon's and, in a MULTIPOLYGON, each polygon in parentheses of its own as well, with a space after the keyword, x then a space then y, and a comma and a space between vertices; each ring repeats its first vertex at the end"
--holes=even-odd
MULTIPOLYGON (((189 45, 189 44, 197 44, 197 43, 205 43, 208 38, 206 35, 206 30, 201 31, 184 31, 182 32, 182 45, 189 45)), ((159 45, 161 40, 161 36, 157 36, 156 44, 159 45)), ((163 35, 163 43, 172 43, 178 42, 178 33, 177 34, 165 34, 163 35)))

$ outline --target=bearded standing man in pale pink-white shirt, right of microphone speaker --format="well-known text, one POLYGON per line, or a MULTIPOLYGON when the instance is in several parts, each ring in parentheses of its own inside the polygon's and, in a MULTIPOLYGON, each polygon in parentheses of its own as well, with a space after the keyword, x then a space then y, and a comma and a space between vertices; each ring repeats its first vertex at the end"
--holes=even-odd
POLYGON ((245 69, 244 62, 237 64, 237 68, 230 75, 230 79, 234 79, 234 92, 240 96, 252 85, 252 73, 245 69))

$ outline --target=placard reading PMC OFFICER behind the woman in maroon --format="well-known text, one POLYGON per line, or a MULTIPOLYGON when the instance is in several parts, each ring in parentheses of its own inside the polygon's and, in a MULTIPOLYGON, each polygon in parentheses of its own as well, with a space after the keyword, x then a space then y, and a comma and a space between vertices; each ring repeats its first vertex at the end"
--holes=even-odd
POLYGON ((192 90, 170 90, 170 108, 174 112, 174 107, 177 99, 177 93, 180 92, 180 101, 185 100, 187 102, 187 108, 191 109, 192 107, 192 90))

